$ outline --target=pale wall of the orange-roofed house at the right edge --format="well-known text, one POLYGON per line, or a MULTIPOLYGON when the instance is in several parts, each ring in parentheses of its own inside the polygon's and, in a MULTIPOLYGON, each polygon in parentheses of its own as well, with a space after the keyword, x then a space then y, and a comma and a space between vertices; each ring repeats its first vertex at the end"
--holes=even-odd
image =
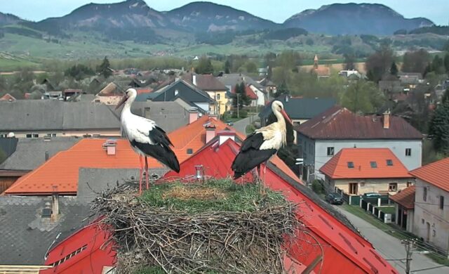
POLYGON ((420 179, 415 183, 415 218, 413 233, 449 253, 449 193, 420 179), (427 196, 424 200, 424 188, 427 196), (440 207, 443 197, 443 208, 440 207))

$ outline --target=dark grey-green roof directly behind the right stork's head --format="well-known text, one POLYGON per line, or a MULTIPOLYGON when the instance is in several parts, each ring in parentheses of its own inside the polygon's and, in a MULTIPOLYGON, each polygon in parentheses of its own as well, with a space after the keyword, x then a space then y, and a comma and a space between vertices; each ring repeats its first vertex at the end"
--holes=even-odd
MULTIPOLYGON (((291 119, 311 119, 337 103, 334 98, 290 98, 280 96, 274 100, 280 100, 283 103, 284 109, 291 119)), ((259 117, 262 119, 269 117, 272 113, 272 102, 264 107, 259 117)))

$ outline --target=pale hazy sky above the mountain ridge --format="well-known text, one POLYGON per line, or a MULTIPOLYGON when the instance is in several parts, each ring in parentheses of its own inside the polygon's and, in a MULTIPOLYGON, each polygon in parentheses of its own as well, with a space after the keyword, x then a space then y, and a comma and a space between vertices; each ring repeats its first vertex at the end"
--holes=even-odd
MULTIPOLYGON (((123 0, 121 0, 123 1, 123 0)), ((94 3, 116 3, 117 0, 0 0, 0 12, 13 13, 21 18, 39 21, 48 17, 66 15, 75 8, 94 3)), ((145 0, 156 11, 170 11, 188 4, 188 0, 145 0)), ((332 3, 379 3, 393 8, 406 18, 425 17, 437 25, 448 25, 449 0, 378 0, 378 1, 326 1, 326 0, 211 0, 252 13, 274 22, 283 22, 291 15, 307 8, 319 8, 332 3)))

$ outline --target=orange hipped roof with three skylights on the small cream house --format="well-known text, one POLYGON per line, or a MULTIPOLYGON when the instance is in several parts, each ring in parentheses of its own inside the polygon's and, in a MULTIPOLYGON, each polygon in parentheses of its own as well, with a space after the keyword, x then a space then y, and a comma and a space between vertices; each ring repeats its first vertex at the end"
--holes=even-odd
POLYGON ((333 179, 412 177, 389 148, 343 148, 320 171, 333 179))

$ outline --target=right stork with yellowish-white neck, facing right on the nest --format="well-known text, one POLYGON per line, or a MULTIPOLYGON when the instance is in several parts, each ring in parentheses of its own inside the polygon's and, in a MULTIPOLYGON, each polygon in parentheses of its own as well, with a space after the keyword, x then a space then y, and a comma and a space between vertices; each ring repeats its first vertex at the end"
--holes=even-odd
POLYGON ((265 174, 268 160, 278 152, 282 145, 286 145, 286 120, 290 124, 291 120, 283 109, 283 104, 278 100, 272 103, 272 111, 277 122, 256 129, 241 144, 240 152, 232 162, 231 168, 234 171, 234 179, 240 178, 255 167, 259 171, 258 176, 260 178, 260 165, 264 163, 263 173, 265 174))

